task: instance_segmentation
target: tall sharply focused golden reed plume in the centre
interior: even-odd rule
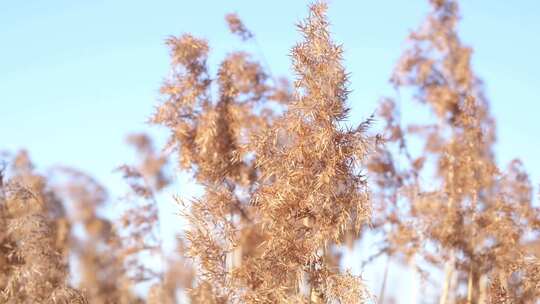
[[[311,294],[329,301],[337,293],[356,291],[361,282],[341,277],[327,261],[332,244],[341,243],[350,228],[358,230],[369,217],[369,197],[359,173],[368,151],[362,128],[340,127],[348,112],[347,75],[342,49],[328,31],[326,6],[310,7],[298,28],[304,41],[292,50],[297,78],[288,111],[257,138],[258,189],[253,204],[267,239],[252,274],[260,284],[256,297],[284,301],[298,289],[301,278]],[[344,294],[341,294],[344,295]],[[345,300],[338,296],[342,303]]]

